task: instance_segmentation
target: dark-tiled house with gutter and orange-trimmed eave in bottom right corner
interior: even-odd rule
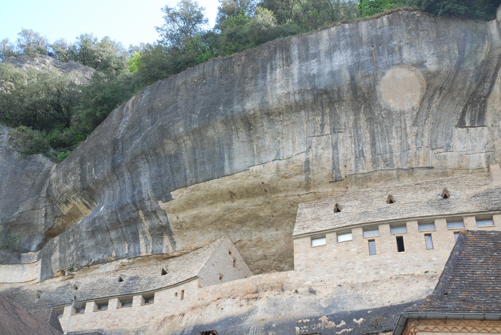
[[[463,231],[431,295],[400,314],[393,335],[501,333],[501,233]]]

